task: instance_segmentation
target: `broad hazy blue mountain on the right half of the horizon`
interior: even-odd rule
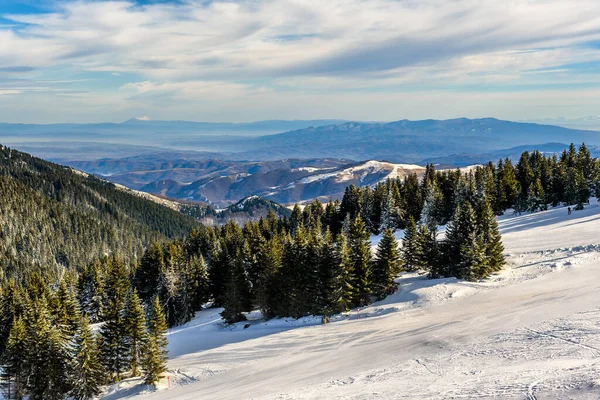
[[[501,121],[494,118],[445,121],[402,120],[311,127],[254,139],[246,159],[334,157],[414,163],[428,157],[480,154],[509,146],[562,142],[600,144],[600,132]]]

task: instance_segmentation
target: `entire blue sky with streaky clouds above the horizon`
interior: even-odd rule
[[[598,0],[0,0],[0,121],[600,114]]]

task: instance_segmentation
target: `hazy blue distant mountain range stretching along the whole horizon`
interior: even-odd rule
[[[195,159],[338,158],[415,163],[424,158],[485,154],[537,143],[600,145],[600,132],[494,118],[389,123],[261,121],[247,124],[138,118],[120,124],[0,124],[0,141],[55,161],[186,151],[195,152],[188,154]],[[78,150],[81,147],[85,152]],[[124,152],[127,154],[123,155]]]

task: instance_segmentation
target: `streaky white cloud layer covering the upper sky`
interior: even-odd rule
[[[600,40],[598,15],[597,0],[64,2],[49,14],[4,16],[27,25],[0,30],[0,83],[2,68],[15,66],[106,72],[139,77],[103,90],[123,107],[212,100],[232,110],[240,97],[268,97],[282,114],[306,114],[312,107],[299,100],[318,93],[366,96],[382,114],[377,105],[415,91],[597,84],[597,74],[561,66],[600,61],[584,46]]]

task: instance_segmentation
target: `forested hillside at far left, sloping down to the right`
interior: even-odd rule
[[[75,267],[105,254],[135,259],[182,237],[190,217],[94,176],[0,147],[3,268]]]

